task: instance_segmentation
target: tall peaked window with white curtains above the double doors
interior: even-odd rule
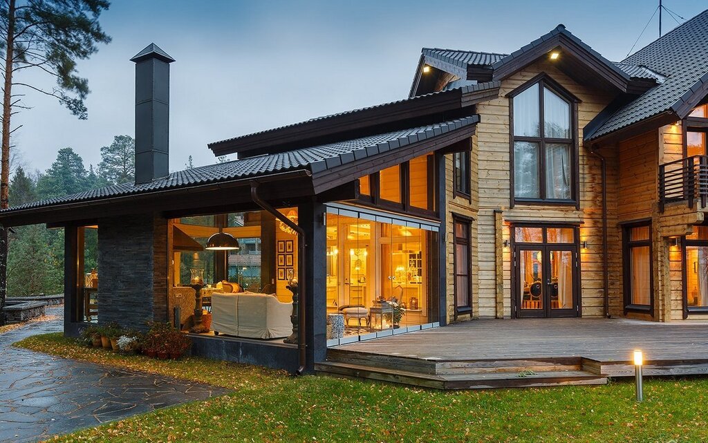
[[[576,200],[575,100],[544,77],[510,93],[513,200]]]

